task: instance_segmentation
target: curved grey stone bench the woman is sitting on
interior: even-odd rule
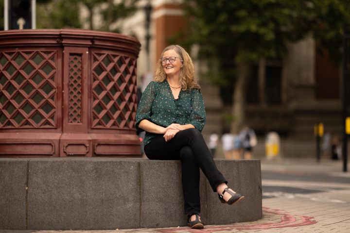
[[[201,174],[205,224],[262,217],[259,160],[215,160],[245,195],[222,204]],[[185,226],[179,161],[127,158],[0,159],[0,229],[108,230]]]

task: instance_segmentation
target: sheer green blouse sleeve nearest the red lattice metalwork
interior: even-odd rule
[[[138,109],[136,111],[136,123],[135,128],[136,130],[139,130],[140,132],[144,131],[139,128],[140,121],[143,119],[150,120],[151,119],[151,110],[153,101],[156,97],[155,92],[155,83],[151,82],[148,84],[146,89],[143,91]]]

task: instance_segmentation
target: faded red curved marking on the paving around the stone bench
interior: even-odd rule
[[[299,227],[315,224],[316,221],[313,220],[314,217],[311,216],[293,216],[290,213],[283,210],[274,210],[267,207],[262,207],[262,211],[265,213],[275,214],[280,216],[280,222],[271,222],[255,225],[240,225],[237,223],[235,225],[216,225],[212,227],[205,227],[202,230],[189,229],[187,227],[180,227],[176,229],[154,229],[157,232],[161,233],[180,233],[180,232],[219,232],[219,231],[229,231],[229,230],[254,230],[254,229],[271,229],[271,228],[284,228],[284,227]],[[299,220],[297,220],[297,218]]]

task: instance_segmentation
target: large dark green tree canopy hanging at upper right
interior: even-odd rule
[[[191,20],[189,44],[218,70],[214,83],[234,85],[236,65],[280,58],[287,42],[311,34],[339,59],[350,0],[185,0]],[[212,69],[210,69],[212,70]]]

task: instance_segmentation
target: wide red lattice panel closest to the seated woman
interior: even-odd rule
[[[136,115],[136,60],[92,53],[92,128],[133,129]]]

